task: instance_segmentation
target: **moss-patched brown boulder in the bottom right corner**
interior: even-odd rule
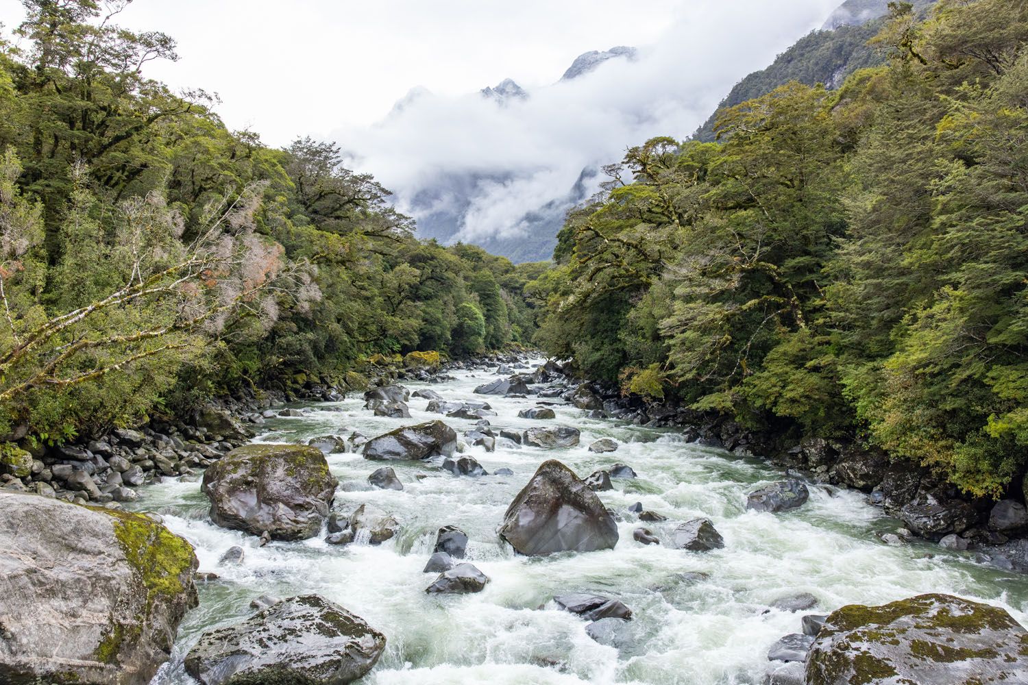
[[[1004,610],[920,595],[829,615],[810,649],[807,685],[1028,684],[1028,631]]]

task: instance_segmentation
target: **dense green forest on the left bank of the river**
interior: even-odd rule
[[[228,130],[145,76],[176,45],[118,28],[125,4],[26,0],[0,42],[0,434],[530,339],[543,265],[415,239],[334,145]]]

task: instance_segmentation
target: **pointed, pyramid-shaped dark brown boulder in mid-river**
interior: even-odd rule
[[[618,525],[610,511],[567,466],[551,459],[507,507],[500,536],[522,555],[610,549]]]

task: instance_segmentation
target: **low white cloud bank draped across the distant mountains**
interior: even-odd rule
[[[564,81],[567,65],[554,65],[552,85],[502,104],[477,92],[414,90],[380,122],[334,138],[415,219],[453,217],[449,227],[433,222],[432,237],[516,238],[534,230],[526,214],[567,200],[583,169],[617,161],[654,136],[688,137],[736,81],[770,64],[837,4],[694,0],[683,3],[660,40],[636,46],[632,61],[610,60]]]

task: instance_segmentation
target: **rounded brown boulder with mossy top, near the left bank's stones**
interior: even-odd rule
[[[244,445],[204,472],[201,490],[222,528],[301,540],[321,530],[336,485],[316,447]]]

